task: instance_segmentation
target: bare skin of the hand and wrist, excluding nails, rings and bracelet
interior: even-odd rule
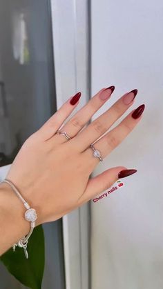
[[[126,169],[124,166],[109,168],[89,178],[99,163],[99,159],[93,157],[90,143],[95,142],[95,148],[105,158],[142,118],[133,119],[132,111],[118,126],[107,132],[135,101],[124,104],[124,94],[104,114],[87,125],[111,96],[110,90],[108,99],[100,99],[103,91],[104,88],[99,90],[66,122],[79,103],[72,106],[70,97],[39,130],[28,137],[10,167],[6,179],[15,184],[30,207],[37,211],[36,226],[55,221],[93,199],[110,188],[118,179],[118,173]],[[56,134],[62,125],[61,130],[66,130],[73,139],[67,140],[63,135]],[[26,209],[7,183],[0,184],[0,210],[0,254],[3,254],[28,233],[30,224],[23,218]]]

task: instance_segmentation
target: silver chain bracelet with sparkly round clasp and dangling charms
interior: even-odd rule
[[[28,259],[28,251],[27,251],[27,244],[28,244],[28,239],[30,235],[32,234],[33,229],[35,228],[35,221],[37,219],[37,213],[36,210],[33,208],[30,208],[29,204],[23,199],[21,196],[20,192],[17,190],[15,185],[12,183],[12,181],[9,181],[8,179],[3,179],[0,183],[8,183],[12,190],[16,193],[17,197],[21,199],[23,202],[23,206],[27,209],[26,212],[24,213],[24,217],[27,221],[30,221],[30,231],[28,232],[28,235],[24,236],[22,239],[20,239],[17,243],[12,245],[13,251],[15,251],[16,246],[19,246],[20,248],[23,248],[24,254],[26,258]]]

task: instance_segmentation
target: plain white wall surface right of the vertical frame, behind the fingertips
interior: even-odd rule
[[[146,104],[141,123],[93,173],[138,170],[91,203],[92,289],[163,288],[162,14],[161,0],[92,1],[92,94],[116,86],[93,119],[134,88],[133,108]]]

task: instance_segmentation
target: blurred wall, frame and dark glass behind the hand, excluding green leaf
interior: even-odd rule
[[[141,123],[92,175],[112,166],[137,174],[44,226],[43,288],[163,288],[162,15],[161,0],[0,0],[0,179],[23,141],[77,91],[75,112],[115,86],[92,120],[135,88],[133,108],[146,104]],[[24,288],[0,267],[1,289]]]

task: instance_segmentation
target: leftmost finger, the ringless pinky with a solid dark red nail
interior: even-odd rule
[[[81,92],[77,92],[73,97],[70,97],[62,106],[55,112],[55,114],[44,123],[39,130],[37,130],[37,136],[39,134],[43,141],[48,141],[57,132],[60,126],[64,123],[67,117],[73,112],[77,104],[79,103],[79,98],[81,97]]]

